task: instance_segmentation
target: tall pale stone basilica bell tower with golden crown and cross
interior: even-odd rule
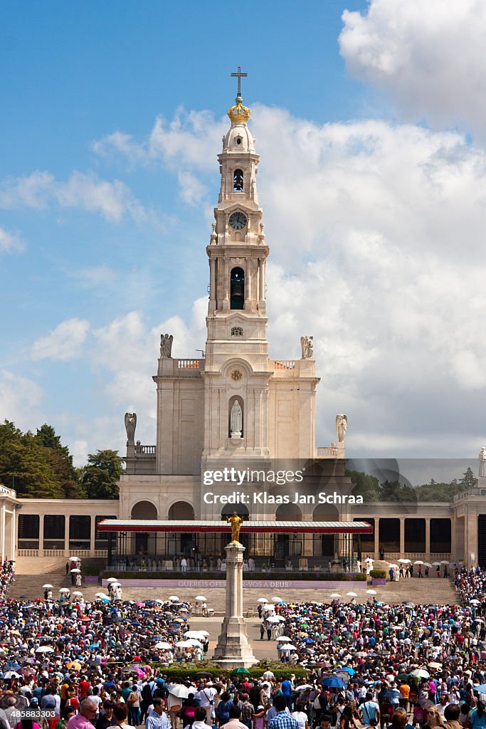
[[[203,456],[268,456],[265,243],[256,173],[259,156],[248,129],[238,69],[231,126],[218,156],[221,186],[211,241],[205,346]]]

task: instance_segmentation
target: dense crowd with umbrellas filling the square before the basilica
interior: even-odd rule
[[[270,670],[171,680],[171,661],[208,649],[174,597],[4,599],[1,729],[486,729],[485,582],[479,568],[458,570],[458,605],[260,604],[283,680]]]

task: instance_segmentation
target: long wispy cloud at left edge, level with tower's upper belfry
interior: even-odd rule
[[[119,222],[125,215],[137,221],[146,217],[125,183],[107,182],[94,174],[74,171],[66,182],[59,182],[48,172],[36,171],[1,183],[0,208],[42,209],[50,203],[99,213],[111,222]]]

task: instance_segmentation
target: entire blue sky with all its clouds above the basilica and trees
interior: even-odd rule
[[[312,327],[318,444],[346,412],[356,456],[479,450],[485,13],[402,6],[2,5],[1,418],[47,421],[81,462],[122,449],[134,408],[154,443],[160,332],[176,356],[204,346],[216,155],[240,65],[271,353],[299,356]]]

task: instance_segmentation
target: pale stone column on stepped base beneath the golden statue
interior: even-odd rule
[[[243,547],[232,542],[226,550],[226,611],[213,660],[229,668],[256,663],[243,620]]]

